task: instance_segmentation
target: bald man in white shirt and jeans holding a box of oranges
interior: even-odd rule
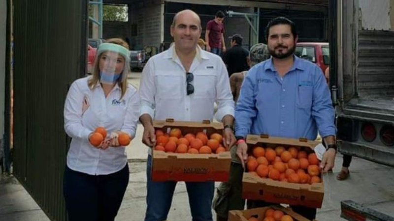
[[[213,120],[225,125],[225,146],[232,146],[234,102],[227,69],[222,59],[197,47],[201,22],[191,10],[178,12],[171,25],[175,44],[151,57],[142,71],[140,121],[143,142],[153,147],[156,137],[152,119],[180,121]],[[167,219],[176,182],[151,180],[151,150],[147,162],[147,209],[145,221]],[[214,182],[186,182],[193,221],[212,221]]]

